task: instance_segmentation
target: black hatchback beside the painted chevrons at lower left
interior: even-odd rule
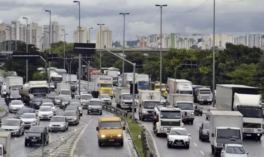
[[[26,133],[25,146],[28,146],[28,144],[29,146],[32,144],[46,145],[49,143],[49,132],[46,126],[31,126]]]

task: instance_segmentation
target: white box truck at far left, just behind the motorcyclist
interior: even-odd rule
[[[6,77],[6,95],[11,93],[19,93],[19,89],[23,87],[23,77],[14,76]]]

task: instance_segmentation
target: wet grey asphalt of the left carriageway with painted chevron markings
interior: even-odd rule
[[[0,99],[0,107],[8,111],[4,99]],[[37,112],[37,111],[36,111]],[[63,109],[56,107],[56,115],[62,114]],[[110,113],[103,112],[102,116],[113,116]],[[7,118],[13,118],[14,114],[7,113],[2,117],[4,121]],[[56,157],[67,156],[120,156],[137,157],[133,149],[129,134],[124,131],[124,146],[98,146],[96,126],[100,115],[87,115],[87,109],[81,117],[79,125],[69,126],[66,132],[50,132],[50,144],[44,147],[44,153],[53,154]],[[48,126],[49,121],[40,121],[40,125]],[[27,129],[26,129],[27,131]],[[20,137],[11,137],[11,157],[38,157],[42,156],[42,147],[39,145],[24,146],[25,135]]]

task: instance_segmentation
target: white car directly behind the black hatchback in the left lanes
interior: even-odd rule
[[[36,113],[24,113],[20,119],[24,122],[25,128],[39,125],[40,123],[40,119]]]

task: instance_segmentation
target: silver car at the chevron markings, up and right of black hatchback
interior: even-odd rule
[[[50,121],[48,130],[53,131],[53,130],[62,130],[65,132],[68,130],[69,123],[66,117],[64,116],[53,116],[52,119],[48,120]]]

